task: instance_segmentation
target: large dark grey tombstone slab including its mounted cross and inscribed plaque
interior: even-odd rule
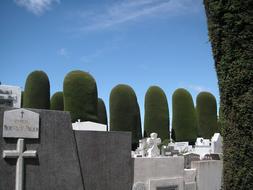
[[[70,114],[0,107],[1,190],[84,190]]]

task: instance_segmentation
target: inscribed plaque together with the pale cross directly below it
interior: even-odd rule
[[[25,109],[4,112],[3,137],[18,138],[16,150],[4,150],[4,159],[17,159],[15,190],[22,190],[24,158],[36,158],[36,150],[25,151],[24,138],[39,138],[39,114]]]

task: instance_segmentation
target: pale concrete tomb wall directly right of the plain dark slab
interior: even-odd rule
[[[184,157],[133,158],[134,183],[142,182],[147,190],[177,185],[184,189]]]

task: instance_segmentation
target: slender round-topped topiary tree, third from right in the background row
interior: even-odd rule
[[[169,108],[164,91],[151,86],[145,95],[144,130],[147,136],[155,132],[163,140],[169,138]]]

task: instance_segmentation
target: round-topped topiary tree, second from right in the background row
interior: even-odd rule
[[[172,128],[175,141],[189,141],[194,144],[197,138],[197,116],[191,94],[177,89],[172,96]]]

